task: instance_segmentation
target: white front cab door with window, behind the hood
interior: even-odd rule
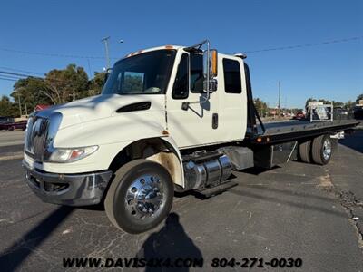
[[[219,95],[211,93],[203,102],[203,57],[179,51],[166,95],[167,131],[179,148],[196,147],[222,141],[219,125]],[[190,102],[188,107],[185,103]],[[184,106],[183,106],[184,105]]]

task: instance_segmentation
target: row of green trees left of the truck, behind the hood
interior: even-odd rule
[[[71,102],[101,93],[105,73],[95,72],[88,78],[84,68],[69,64],[65,69],[53,69],[44,77],[28,76],[14,84],[10,96],[0,100],[0,116],[19,116],[19,101],[22,114],[33,112],[37,104],[55,105]]]

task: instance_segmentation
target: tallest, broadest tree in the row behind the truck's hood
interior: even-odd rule
[[[64,70],[54,69],[46,73],[47,88],[42,90],[54,104],[70,102],[89,96],[88,76],[83,67],[69,64]]]

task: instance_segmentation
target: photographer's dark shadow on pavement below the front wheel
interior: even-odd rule
[[[201,250],[185,233],[179,221],[179,215],[172,212],[165,220],[165,226],[158,232],[152,233],[142,244],[138,258],[166,259],[201,259]],[[166,271],[167,267],[146,267],[145,271]],[[173,268],[177,271],[189,271],[188,267]]]

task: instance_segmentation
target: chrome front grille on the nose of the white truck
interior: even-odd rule
[[[43,161],[50,121],[33,117],[28,121],[25,136],[25,152],[34,160]]]

